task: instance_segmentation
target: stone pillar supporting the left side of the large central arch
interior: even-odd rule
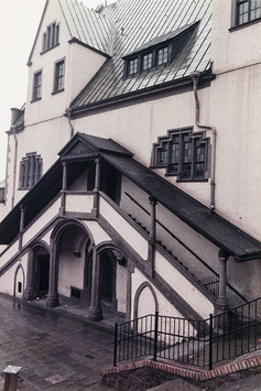
[[[46,307],[57,307],[58,305],[58,251],[57,245],[54,242],[54,239],[52,239]]]

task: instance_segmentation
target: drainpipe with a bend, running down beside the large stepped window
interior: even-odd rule
[[[217,137],[217,131],[216,128],[210,126],[210,124],[203,124],[199,123],[199,99],[198,99],[198,94],[197,94],[197,86],[198,86],[198,80],[200,77],[200,72],[192,72],[191,77],[193,79],[193,85],[194,85],[194,97],[195,97],[195,123],[198,128],[200,129],[207,129],[210,130],[210,138],[211,138],[211,163],[210,163],[210,178],[209,178],[209,184],[210,184],[210,209],[215,209],[215,172],[216,172],[216,137]]]

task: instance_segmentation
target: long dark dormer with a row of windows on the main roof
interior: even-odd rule
[[[181,53],[198,22],[157,36],[123,56],[124,77],[166,66]]]

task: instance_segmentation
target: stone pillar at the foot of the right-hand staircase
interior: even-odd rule
[[[219,295],[218,300],[215,303],[215,315],[222,314],[225,311],[229,309],[229,303],[227,300],[227,261],[228,254],[219,250]],[[228,315],[220,316],[216,318],[215,327],[218,329],[227,328],[228,326]]]

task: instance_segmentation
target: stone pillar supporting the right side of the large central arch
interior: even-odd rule
[[[93,284],[90,292],[90,307],[88,319],[98,322],[102,319],[102,311],[100,305],[100,258],[97,249],[93,251]]]

